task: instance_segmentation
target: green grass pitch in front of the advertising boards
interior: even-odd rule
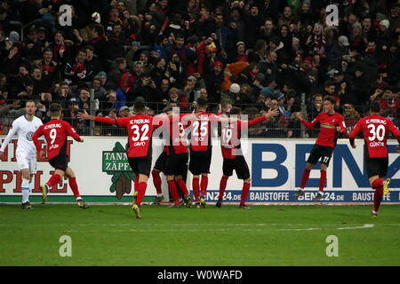
[[[0,206],[0,265],[400,265],[400,207]],[[72,240],[61,257],[60,236]],[[339,256],[326,256],[329,235]]]

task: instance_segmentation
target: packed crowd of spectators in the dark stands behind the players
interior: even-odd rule
[[[60,24],[62,4],[72,26]],[[329,4],[339,6],[338,26],[326,24]],[[349,128],[372,100],[398,126],[399,12],[397,0],[0,1],[0,134],[28,99],[44,121],[60,102],[89,134],[78,110],[128,116],[138,96],[149,114],[190,112],[198,98],[251,117],[279,109],[251,129],[258,137],[300,137],[294,113],[312,120],[328,94]]]

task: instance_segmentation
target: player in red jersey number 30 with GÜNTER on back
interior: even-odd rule
[[[392,132],[400,144],[400,131],[386,117],[380,116],[380,103],[373,101],[370,115],[360,119],[349,135],[350,145],[356,149],[355,138],[363,131],[364,162],[373,193],[372,218],[378,217],[383,194],[388,194],[390,179],[384,180],[388,173],[388,132]],[[400,148],[397,150],[400,151]],[[400,153],[400,152],[399,152]]]

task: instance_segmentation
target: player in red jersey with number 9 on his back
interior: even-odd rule
[[[40,153],[40,157],[44,159],[46,154],[41,149],[39,138],[43,135],[47,142],[47,153],[49,163],[55,169],[54,174],[47,181],[45,185],[40,185],[42,189],[43,202],[47,201],[47,193],[53,185],[60,182],[61,178],[68,177],[68,184],[71,187],[72,192],[76,197],[78,206],[82,209],[87,209],[89,206],[84,203],[79,193],[78,186],[76,184],[76,175],[74,170],[68,167],[68,154],[67,154],[67,137],[70,136],[78,142],[84,142],[83,138],[76,133],[72,126],[68,122],[60,120],[61,117],[61,105],[52,104],[49,106],[51,121],[40,126],[32,136],[32,140],[35,143],[37,152]]]

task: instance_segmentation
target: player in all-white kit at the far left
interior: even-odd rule
[[[12,128],[0,148],[0,157],[4,155],[5,147],[10,143],[12,137],[18,135],[16,156],[22,174],[22,209],[31,209],[29,203],[30,182],[33,175],[36,174],[36,147],[32,141],[32,135],[43,123],[35,116],[36,104],[33,100],[27,101],[25,113],[12,122]]]

